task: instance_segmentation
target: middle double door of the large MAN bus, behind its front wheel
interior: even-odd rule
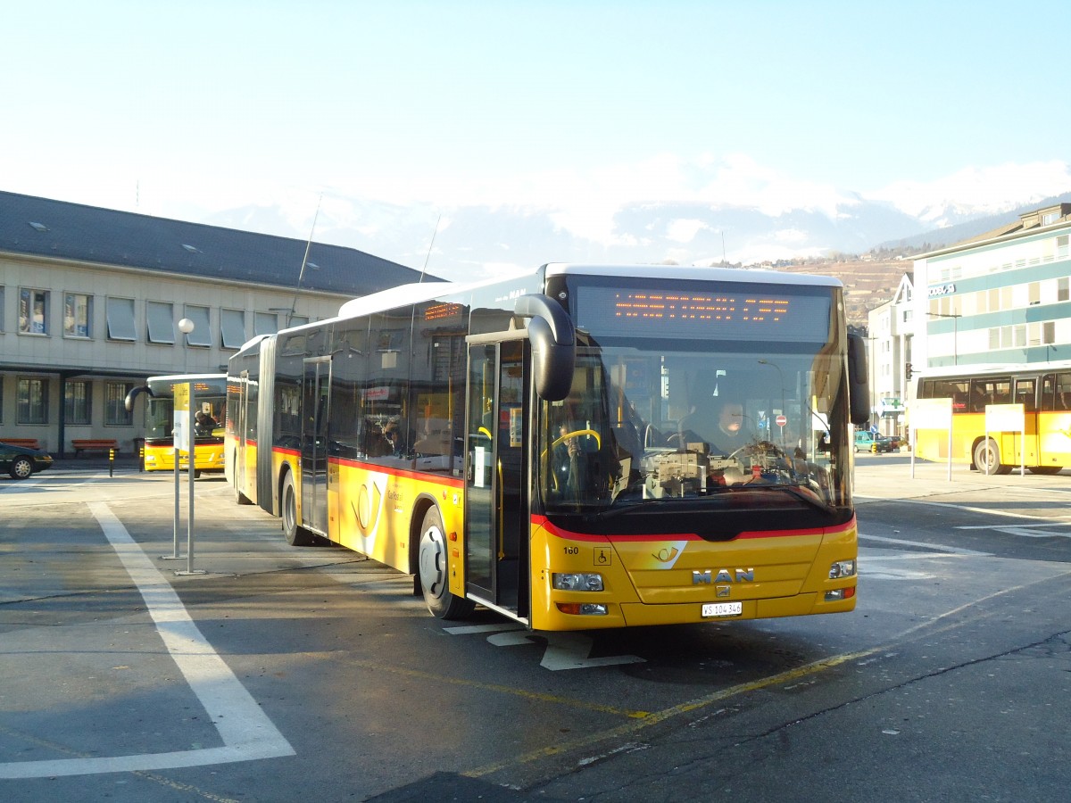
[[[306,359],[301,423],[301,517],[312,530],[328,526],[328,414],[331,358]]]

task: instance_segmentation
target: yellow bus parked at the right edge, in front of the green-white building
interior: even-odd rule
[[[951,399],[952,463],[991,474],[1071,466],[1071,362],[932,368],[918,379],[916,398]],[[989,405],[1023,405],[1024,433],[986,434]],[[947,430],[919,429],[916,439],[916,456],[948,459]]]

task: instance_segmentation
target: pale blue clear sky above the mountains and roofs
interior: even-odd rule
[[[342,198],[531,208],[600,239],[625,203],[919,214],[1071,190],[1052,5],[5,6],[0,190],[58,200],[276,204],[299,230]]]

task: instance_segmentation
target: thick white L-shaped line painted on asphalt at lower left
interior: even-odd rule
[[[89,510],[145,600],[156,632],[205,707],[223,746],[133,756],[12,761],[0,763],[0,778],[167,770],[295,755],[293,747],[201,635],[175,589],[108,505],[94,502]]]

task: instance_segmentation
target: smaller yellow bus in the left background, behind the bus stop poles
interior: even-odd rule
[[[223,442],[227,415],[226,374],[172,374],[149,377],[144,385],[126,395],[126,409],[134,409],[134,399],[142,393],[145,403],[146,471],[175,471],[175,385],[190,383],[193,406],[190,421],[194,429],[194,475],[202,471],[222,473]],[[181,444],[183,452],[187,444]],[[190,466],[185,454],[179,456],[179,469]]]

